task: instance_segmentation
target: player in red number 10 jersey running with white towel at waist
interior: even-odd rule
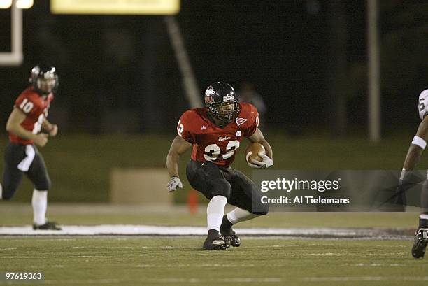
[[[35,146],[43,147],[48,143],[48,136],[56,136],[58,132],[57,125],[46,119],[59,84],[57,71],[52,66],[34,66],[29,82],[31,86],[17,97],[6,124],[9,143],[4,155],[0,199],[12,198],[21,183],[22,174],[26,173],[34,184],[31,199],[33,229],[59,230],[55,222],[48,222],[45,217],[50,178],[45,161]]]

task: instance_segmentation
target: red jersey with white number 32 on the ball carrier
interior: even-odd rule
[[[224,128],[208,118],[206,108],[187,110],[177,124],[178,135],[193,144],[192,160],[229,166],[244,137],[254,134],[259,126],[259,113],[250,103],[239,103],[241,111]]]

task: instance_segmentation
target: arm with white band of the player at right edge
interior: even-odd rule
[[[422,122],[420,122],[418,131],[416,131],[415,137],[408,148],[406,159],[404,160],[404,170],[413,170],[415,169],[416,164],[418,164],[422,152],[425,149],[428,141],[428,116],[425,116]]]

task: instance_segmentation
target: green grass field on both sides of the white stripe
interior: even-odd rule
[[[204,208],[191,215],[183,207],[55,203],[48,215],[62,224],[206,224]],[[28,225],[31,207],[4,203],[0,217],[3,226]],[[416,213],[270,213],[239,224],[236,231],[240,227],[375,227],[405,229],[410,234],[417,217]],[[413,242],[406,237],[241,236],[239,248],[208,252],[201,250],[201,236],[0,236],[0,272],[43,273],[43,282],[34,285],[427,285],[427,261],[411,257]]]

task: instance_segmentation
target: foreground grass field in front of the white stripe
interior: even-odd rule
[[[41,272],[44,280],[36,285],[427,285],[428,281],[428,265],[409,255],[409,241],[243,238],[241,247],[221,252],[200,250],[201,238],[3,237],[0,243],[2,271]]]

